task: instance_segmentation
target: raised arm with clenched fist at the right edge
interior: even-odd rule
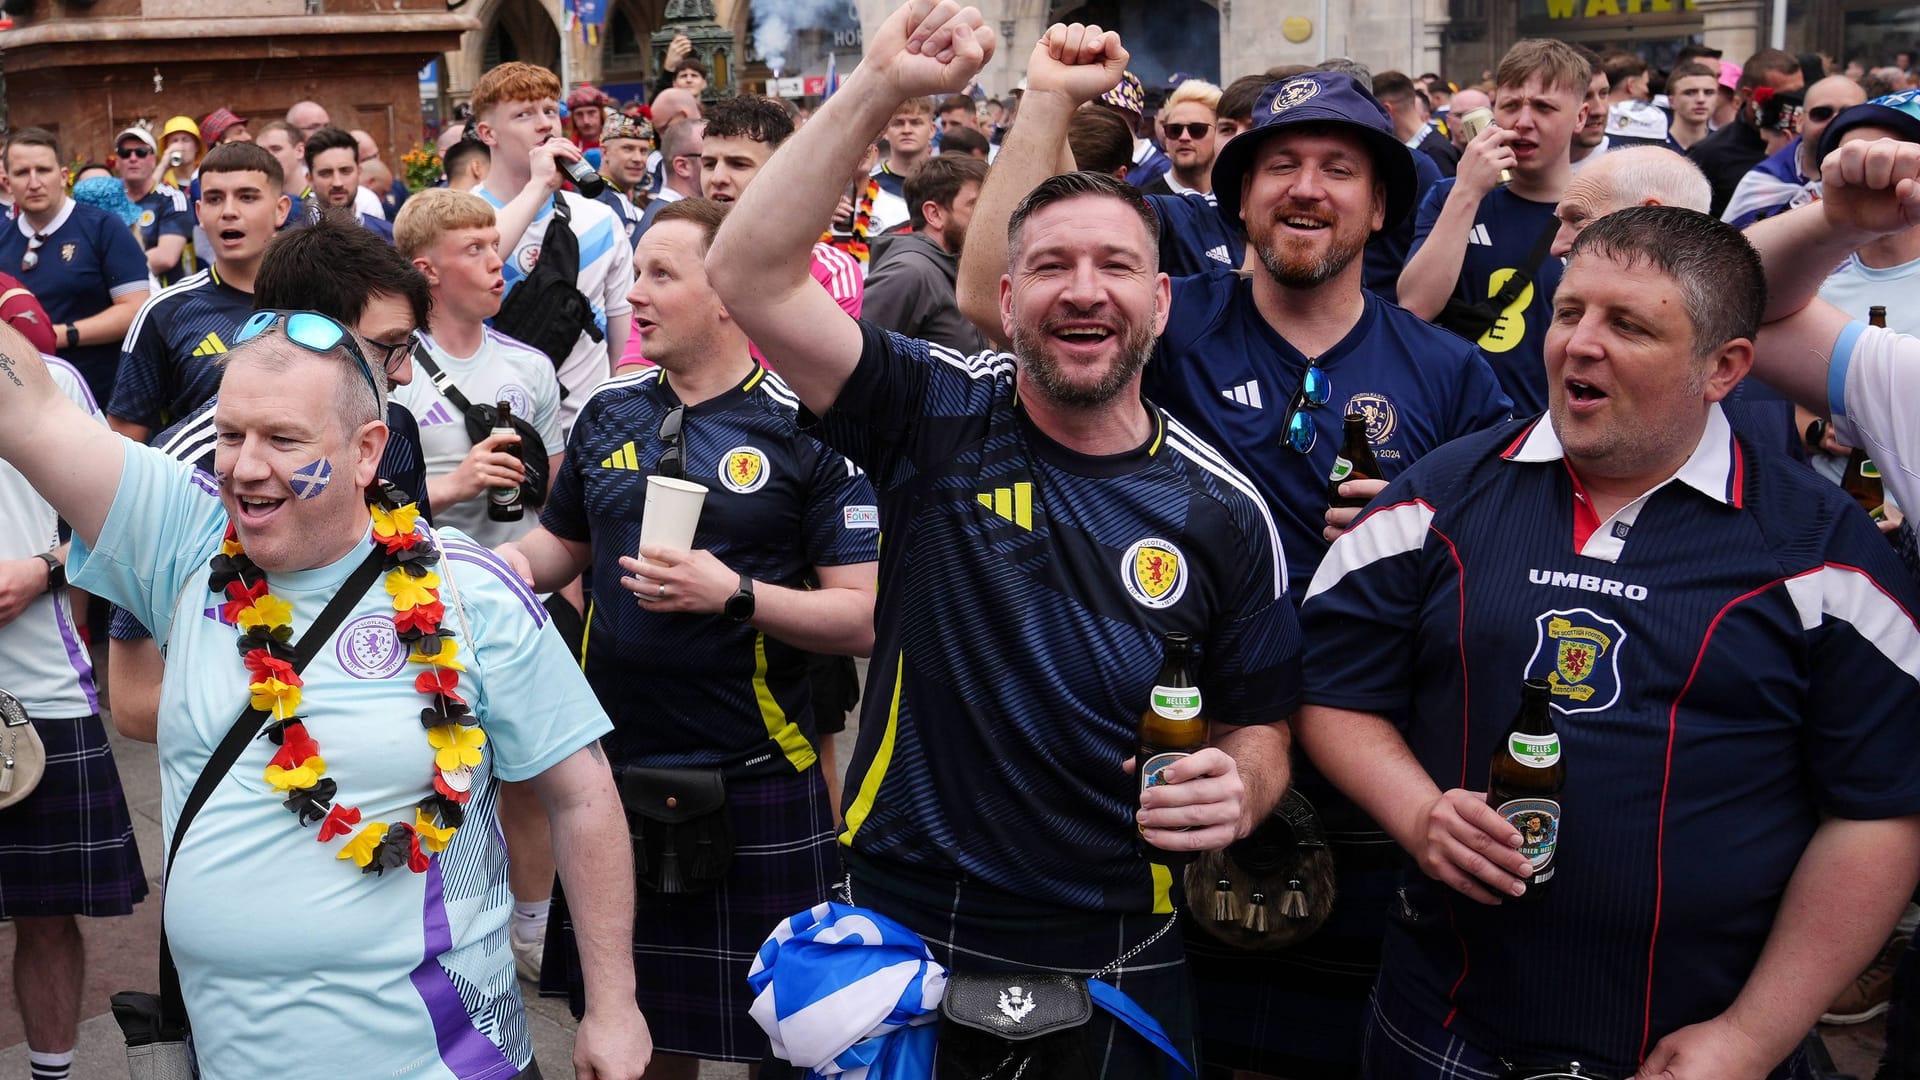
[[[1893,138],[1849,142],[1820,167],[1820,202],[1747,227],[1766,267],[1766,325],[1753,373],[1814,413],[1828,411],[1828,357],[1839,331],[1864,311],[1816,300],[1836,265],[1870,240],[1920,225],[1920,146]]]

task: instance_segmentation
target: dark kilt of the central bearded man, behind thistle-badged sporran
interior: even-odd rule
[[[1039,911],[1006,907],[1006,894],[972,882],[947,882],[935,896],[924,876],[895,876],[897,867],[858,855],[849,857],[851,896],[920,934],[954,974],[1060,972],[1092,978],[1123,953],[1152,940],[1117,970],[1100,976],[1146,1009],[1167,1038],[1198,1068],[1194,1043],[1194,994],[1187,970],[1181,926],[1169,915],[1121,911]],[[1016,982],[1016,978],[1008,978]],[[1167,1057],[1104,1009],[1081,1026],[1085,1057],[1102,1080],[1150,1080],[1173,1076]]]

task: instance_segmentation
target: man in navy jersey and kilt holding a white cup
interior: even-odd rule
[[[747,1015],[755,949],[839,878],[801,650],[866,655],[874,644],[874,490],[799,429],[797,398],[760,369],[707,282],[703,256],[726,215],[680,200],[641,238],[630,300],[659,367],[588,398],[541,527],[499,548],[538,590],[591,567],[586,673],[614,719],[616,773],[707,769],[726,782],[724,880],[685,894],[662,880],[637,899],[634,972],[660,1051],[647,1076],[664,1080],[691,1078],[695,1059],[766,1053]],[[707,488],[693,550],[639,548],[649,475]],[[580,1015],[599,1003],[580,982],[568,903],[555,897],[561,932],[549,930],[541,984],[564,988]]]

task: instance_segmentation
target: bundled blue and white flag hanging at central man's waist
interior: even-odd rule
[[[747,972],[774,1055],[808,1076],[927,1080],[947,969],[893,919],[820,903],[787,919]]]

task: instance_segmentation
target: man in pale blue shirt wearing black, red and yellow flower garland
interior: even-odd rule
[[[167,867],[200,1076],[284,1070],[303,1042],[324,1047],[303,1074],[536,1080],[497,888],[499,784],[526,780],[588,944],[595,1011],[574,1074],[637,1080],[651,1043],[624,949],[634,871],[597,742],[607,715],[513,571],[419,523],[405,496],[369,500],[386,394],[351,331],[275,311],[236,336],[209,479],[92,425],[0,329],[0,457],[73,525],[75,584],[127,603],[175,659],[163,830],[236,721],[271,728],[246,740]],[[336,598],[340,630],[305,642]],[[263,625],[319,646],[300,676],[248,648]],[[250,688],[276,717],[248,717]],[[422,730],[422,705],[447,723]],[[296,746],[309,753],[286,773]]]

